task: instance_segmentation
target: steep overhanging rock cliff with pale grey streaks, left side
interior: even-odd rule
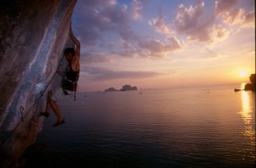
[[[0,167],[21,167],[42,128],[47,91],[60,87],[63,49],[74,46],[68,31],[76,0],[0,4]]]

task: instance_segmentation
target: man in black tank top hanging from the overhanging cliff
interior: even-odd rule
[[[72,92],[76,95],[76,86],[79,78],[80,43],[73,35],[71,29],[68,36],[75,43],[76,50],[74,50],[74,48],[65,49],[64,55],[68,61],[65,78],[62,80],[60,89],[56,90],[56,92],[52,92],[51,90],[48,92],[46,108],[45,111],[41,113],[42,116],[48,118],[50,110],[52,109],[54,114],[58,117],[58,120],[52,124],[53,127],[65,123],[65,119],[62,118],[60,108],[56,102],[59,101],[63,95],[70,95]],[[57,74],[61,75],[61,72],[58,71]]]

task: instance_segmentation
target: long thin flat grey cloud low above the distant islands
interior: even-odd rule
[[[83,73],[92,75],[93,81],[104,80],[117,80],[123,78],[138,79],[138,78],[153,78],[156,76],[165,75],[164,73],[157,73],[153,71],[113,71],[110,69],[104,69],[100,67],[82,67]]]

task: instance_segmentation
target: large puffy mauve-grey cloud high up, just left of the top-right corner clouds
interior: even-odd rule
[[[180,4],[173,24],[177,33],[185,34],[190,40],[211,41],[214,17],[205,17],[202,1],[189,8]]]

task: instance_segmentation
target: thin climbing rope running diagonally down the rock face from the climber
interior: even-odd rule
[[[58,63],[58,67],[56,70],[56,73],[58,71],[58,69],[61,66],[61,62],[63,62],[63,56],[61,57],[59,63]],[[51,80],[49,81],[49,83],[47,83],[47,85],[45,86],[45,88],[43,90],[41,90],[40,92],[40,96],[36,99],[35,103],[28,109],[28,111],[26,113],[24,113],[24,107],[21,106],[20,107],[20,116],[21,116],[21,120],[20,122],[14,127],[14,129],[12,131],[10,131],[9,135],[6,136],[6,138],[4,139],[3,143],[0,144],[0,148],[3,146],[3,144],[10,138],[10,136],[12,136],[13,132],[17,129],[17,127],[20,125],[20,123],[24,122],[24,118],[26,118],[26,116],[28,115],[29,111],[41,100],[42,96],[44,95],[44,92],[47,90],[47,88],[49,87],[49,85],[52,83],[52,80],[54,80],[56,73],[54,74],[54,76],[52,76]],[[25,114],[25,115],[24,115]]]

